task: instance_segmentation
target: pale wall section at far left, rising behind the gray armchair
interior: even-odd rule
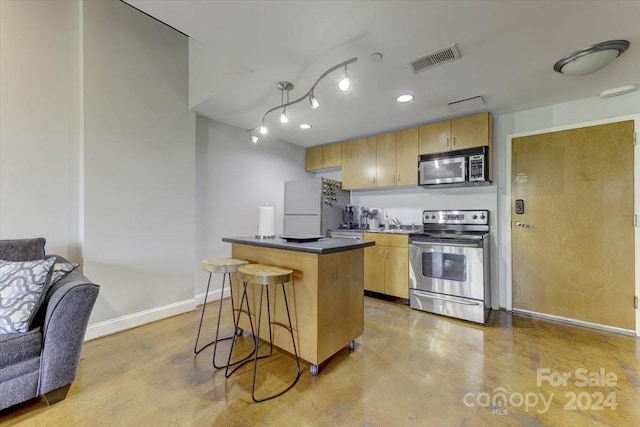
[[[0,238],[80,261],[78,2],[0,1]]]

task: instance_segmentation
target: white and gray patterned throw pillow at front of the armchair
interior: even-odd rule
[[[0,260],[0,334],[27,332],[44,298],[55,258]]]

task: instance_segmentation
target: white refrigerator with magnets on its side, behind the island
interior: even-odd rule
[[[284,184],[284,234],[325,236],[342,224],[342,212],[351,193],[342,183],[326,178],[287,181]]]

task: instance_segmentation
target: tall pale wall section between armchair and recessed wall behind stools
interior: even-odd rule
[[[195,114],[187,37],[125,3],[83,6],[84,271],[101,334],[194,308]]]

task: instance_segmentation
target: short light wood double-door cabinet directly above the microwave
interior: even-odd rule
[[[443,153],[489,145],[490,133],[490,113],[422,125],[418,129],[419,154]]]

